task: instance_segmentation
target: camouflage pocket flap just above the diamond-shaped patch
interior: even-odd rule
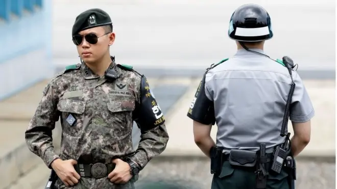
[[[61,99],[57,104],[57,110],[60,112],[83,114],[85,110],[85,102],[82,100]]]

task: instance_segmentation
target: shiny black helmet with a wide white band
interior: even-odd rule
[[[228,36],[246,42],[271,39],[273,31],[268,12],[254,4],[240,6],[230,18]]]

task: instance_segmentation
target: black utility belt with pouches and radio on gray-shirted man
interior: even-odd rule
[[[259,151],[231,150],[229,154],[224,154],[223,149],[212,147],[211,149],[211,174],[218,176],[222,171],[222,165],[229,161],[235,169],[245,169],[255,172],[256,188],[266,188],[267,176],[270,171],[276,174],[285,169],[288,173],[288,183],[290,188],[295,188],[296,179],[295,159],[290,154],[280,154],[279,147],[276,147],[271,154],[265,153],[266,146],[261,144]],[[283,160],[282,160],[283,158]]]

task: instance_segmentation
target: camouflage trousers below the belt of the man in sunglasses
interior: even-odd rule
[[[74,186],[66,186],[60,179],[55,182],[55,189],[134,189],[134,183],[114,184],[107,177],[101,179],[82,177]]]

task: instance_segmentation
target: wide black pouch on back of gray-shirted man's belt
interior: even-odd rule
[[[257,153],[248,150],[231,150],[229,163],[233,166],[254,167],[256,165]]]

